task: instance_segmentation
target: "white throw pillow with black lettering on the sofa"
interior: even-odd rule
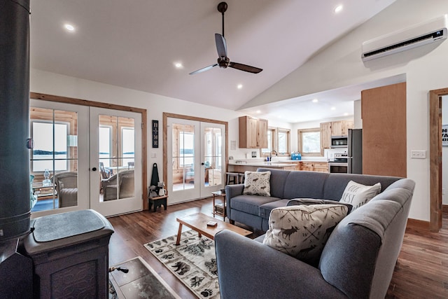
[[[373,186],[365,186],[354,181],[349,181],[345,187],[340,202],[346,202],[353,206],[353,210],[377,196],[381,192],[381,183],[375,183]]]

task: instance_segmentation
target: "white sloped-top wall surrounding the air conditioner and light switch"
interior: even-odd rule
[[[416,181],[410,218],[430,219],[429,158],[410,159],[411,150],[429,156],[428,91],[448,88],[448,41],[414,48],[363,64],[363,41],[448,13],[446,0],[397,0],[371,20],[311,58],[246,106],[405,74],[407,81],[407,176]]]

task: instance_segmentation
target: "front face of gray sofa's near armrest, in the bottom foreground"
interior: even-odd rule
[[[321,272],[230,230],[215,236],[221,298],[346,298]]]

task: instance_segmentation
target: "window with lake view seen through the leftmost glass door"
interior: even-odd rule
[[[50,172],[53,169],[67,170],[68,127],[64,123],[31,120],[31,134],[34,141],[31,172],[44,172],[45,169],[49,169]]]

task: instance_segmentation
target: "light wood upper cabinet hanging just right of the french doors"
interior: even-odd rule
[[[267,148],[267,120],[241,116],[239,118],[239,147]]]

